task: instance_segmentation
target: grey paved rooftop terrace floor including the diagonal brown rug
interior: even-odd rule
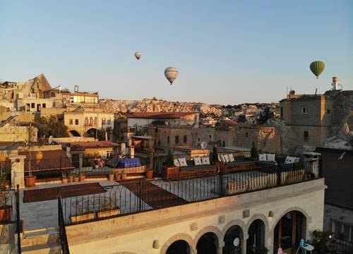
[[[172,205],[182,205],[219,197],[220,183],[226,189],[227,183],[249,182],[249,179],[265,179],[268,174],[261,171],[249,171],[237,174],[227,174],[220,181],[219,176],[209,176],[182,181],[143,180],[143,195],[140,195],[136,184],[138,181],[83,181],[78,183],[48,183],[25,188],[24,190],[65,187],[75,184],[100,183],[104,193],[81,195],[73,198],[63,198],[63,210],[66,223],[70,222],[71,214],[85,214],[87,211],[97,211],[102,205],[114,203],[120,208],[120,214],[158,209]],[[133,186],[135,184],[135,187]],[[258,185],[259,188],[265,186]],[[44,190],[43,190],[44,191]],[[242,189],[241,192],[249,191]],[[231,193],[232,194],[232,193]],[[23,190],[20,191],[20,219],[23,219],[24,230],[53,229],[58,224],[57,200],[41,202],[23,202]]]

